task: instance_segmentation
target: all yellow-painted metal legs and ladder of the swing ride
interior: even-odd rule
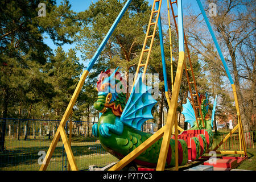
[[[154,11],[156,2],[159,2],[159,9]],[[170,1],[170,3],[171,3],[171,1]],[[172,3],[175,3],[175,2],[172,2]],[[171,3],[171,5],[172,5],[172,3]],[[144,79],[144,76],[146,74],[146,69],[147,69],[147,65],[148,65],[148,60],[150,59],[152,44],[154,42],[154,36],[155,36],[156,27],[157,27],[156,25],[158,23],[158,18],[159,18],[161,5],[162,5],[162,0],[154,0],[154,4],[153,4],[153,7],[152,7],[151,16],[150,16],[150,21],[148,23],[146,38],[144,40],[141,57],[139,59],[139,64],[138,64],[138,67],[137,67],[137,71],[135,73],[134,82],[135,82],[135,80],[138,76],[139,68],[144,67],[142,80]],[[168,11],[170,12],[170,7],[168,7]],[[151,23],[152,15],[155,14],[155,13],[157,13],[156,22]],[[148,35],[148,32],[150,30],[150,26],[153,25],[153,24],[155,24],[154,32],[153,32],[152,35]],[[176,26],[176,24],[175,24],[175,26]],[[148,38],[151,38],[150,48],[145,49],[146,42],[147,42]],[[184,36],[184,39],[185,39],[185,36]],[[186,48],[188,49],[186,40],[185,40],[185,44],[186,44]],[[142,62],[142,59],[143,59],[143,53],[144,52],[148,52],[148,55],[147,55],[146,63],[142,64],[141,62]],[[141,145],[139,145],[133,151],[131,151],[130,154],[126,155],[122,160],[120,160],[117,164],[115,164],[112,168],[110,168],[109,171],[115,171],[115,170],[122,169],[127,164],[132,162],[135,158],[137,158],[140,154],[142,154],[143,151],[147,150],[148,147],[152,146],[152,144],[154,144],[157,140],[159,140],[162,137],[163,137],[163,140],[162,140],[162,145],[161,145],[161,148],[160,148],[160,154],[159,154],[159,158],[158,158],[158,164],[157,164],[157,167],[156,167],[156,171],[163,171],[164,167],[165,167],[165,164],[166,164],[168,146],[170,144],[171,133],[172,133],[172,127],[173,126],[175,127],[175,169],[176,170],[178,169],[177,134],[178,134],[178,130],[183,131],[183,129],[181,129],[179,126],[177,126],[176,109],[177,109],[177,100],[178,100],[178,96],[179,96],[181,78],[183,76],[183,70],[184,70],[184,67],[185,67],[185,63],[184,63],[185,57],[188,57],[188,56],[185,56],[184,51],[180,51],[179,52],[179,60],[178,60],[178,64],[177,64],[177,71],[176,71],[175,81],[174,81],[174,85],[172,86],[172,98],[171,98],[171,100],[168,96],[168,92],[166,92],[166,98],[167,98],[168,105],[169,105],[166,125],[163,126],[160,130],[156,131],[156,133],[154,135],[152,135],[150,138],[148,138],[145,142],[143,142]],[[71,141],[68,140],[68,137],[65,134],[64,127],[65,127],[65,124],[67,123],[69,115],[72,112],[73,106],[75,105],[77,97],[79,96],[82,85],[84,84],[85,79],[88,76],[88,73],[89,73],[89,71],[87,71],[87,70],[84,71],[84,73],[82,73],[80,81],[76,86],[76,90],[73,93],[71,101],[69,102],[69,105],[68,105],[67,109],[65,110],[65,113],[63,115],[63,118],[61,119],[60,125],[59,125],[59,127],[56,131],[56,134],[53,137],[52,143],[49,146],[46,157],[44,158],[43,164],[40,167],[40,171],[44,171],[44,170],[47,169],[47,166],[49,164],[49,160],[51,159],[52,154],[53,154],[53,152],[56,148],[57,142],[59,142],[60,138],[63,141],[63,145],[64,145],[65,151],[67,153],[67,158],[68,158],[68,162],[70,164],[70,168],[72,169],[72,171],[77,171],[78,170],[76,162],[75,162],[75,158],[74,158],[72,150],[71,150],[71,143],[69,143]],[[134,83],[133,83],[133,86],[134,86]],[[238,107],[237,94],[236,94],[236,87],[234,85],[232,85],[232,88],[233,88],[233,93],[234,93],[234,100],[236,102],[238,125],[232,131],[230,131],[230,134],[227,135],[220,142],[220,144],[218,144],[218,146],[216,146],[214,148],[214,150],[217,153],[220,153],[220,154],[241,154],[241,155],[244,154],[244,155],[246,155],[245,139],[244,139],[244,136],[243,136],[243,129],[242,129],[240,111],[239,111],[239,107]],[[240,151],[217,151],[218,147],[220,147],[221,144],[224,143],[225,140],[228,139],[228,137],[230,137],[230,135],[232,135],[232,133],[234,131],[236,131],[237,129],[239,129],[239,134],[240,134]],[[241,142],[242,142],[242,144],[241,144]],[[242,151],[242,147],[243,147],[243,151]]]

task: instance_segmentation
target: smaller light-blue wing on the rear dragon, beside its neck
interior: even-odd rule
[[[181,114],[184,115],[185,122],[188,122],[190,126],[193,127],[195,125],[196,116],[195,116],[194,109],[190,104],[188,98],[187,98],[187,103],[183,104],[182,106],[183,106],[183,111],[181,112]]]

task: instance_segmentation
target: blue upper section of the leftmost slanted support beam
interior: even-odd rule
[[[115,27],[117,27],[117,24],[120,22],[123,14],[125,14],[125,11],[127,10],[128,6],[130,5],[132,0],[127,0],[127,2],[125,3],[125,6],[123,6],[123,9],[120,11],[119,15],[117,16],[117,18],[115,19],[114,23],[112,24],[112,27],[109,29],[108,34],[106,34],[105,38],[102,40],[100,47],[98,47],[97,51],[94,53],[94,56],[92,57],[92,59],[90,60],[86,70],[88,72],[90,72],[90,69],[92,69],[93,64],[95,63],[95,61],[98,59],[98,56],[100,56],[101,51],[103,50],[103,48],[105,47],[106,43],[108,42],[110,36],[112,35],[113,31],[115,30]]]

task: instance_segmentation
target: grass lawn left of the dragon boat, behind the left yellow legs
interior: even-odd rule
[[[37,171],[40,168],[39,151],[47,152],[51,140],[47,137],[40,139],[17,140],[7,137],[6,150],[0,153],[0,170],[11,171]],[[106,152],[97,138],[76,137],[72,139],[71,148],[79,170],[88,169],[92,164],[99,167],[117,162],[118,159]],[[63,160],[63,144],[57,143],[47,170],[63,169],[65,166],[65,150]],[[67,162],[68,164],[68,162]],[[65,168],[64,168],[65,170]]]

